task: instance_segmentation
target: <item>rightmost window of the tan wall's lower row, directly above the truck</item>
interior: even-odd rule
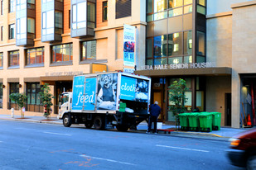
[[[84,41],[82,45],[81,61],[86,59],[96,59],[96,40]]]

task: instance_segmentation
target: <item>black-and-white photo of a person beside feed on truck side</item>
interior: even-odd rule
[[[113,74],[105,74],[104,78],[100,78],[103,80],[99,82],[99,94],[97,97],[98,101],[98,109],[104,110],[114,110],[115,109],[115,100],[116,100],[116,83],[114,83],[114,75]]]

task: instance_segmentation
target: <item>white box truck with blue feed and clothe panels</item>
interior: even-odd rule
[[[59,119],[63,125],[94,125],[96,130],[137,128],[149,114],[151,78],[114,72],[75,76],[73,92],[60,95]]]

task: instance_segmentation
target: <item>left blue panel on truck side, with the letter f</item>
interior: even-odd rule
[[[73,82],[73,101],[72,110],[82,110],[83,102],[81,102],[81,97],[85,90],[85,76],[76,76]]]

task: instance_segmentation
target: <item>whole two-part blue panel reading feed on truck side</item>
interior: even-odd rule
[[[95,91],[96,78],[86,78],[85,83],[85,76],[76,76],[73,82],[72,110],[81,111],[84,105],[85,111],[94,111]]]

